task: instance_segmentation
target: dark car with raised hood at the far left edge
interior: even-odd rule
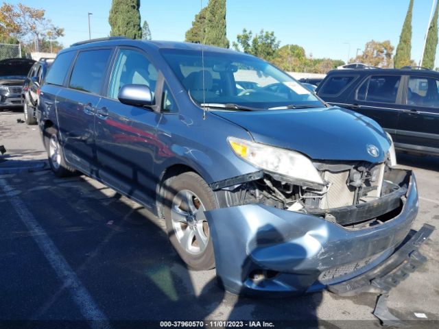
[[[21,89],[34,62],[27,58],[0,60],[0,108],[23,106]]]

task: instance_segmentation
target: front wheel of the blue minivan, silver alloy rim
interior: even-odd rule
[[[191,269],[213,269],[215,256],[204,215],[204,210],[218,208],[213,191],[193,172],[169,178],[163,190],[167,233],[178,255]]]

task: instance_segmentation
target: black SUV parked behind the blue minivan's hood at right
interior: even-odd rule
[[[317,93],[377,121],[396,149],[439,155],[438,86],[439,73],[426,69],[331,71]]]

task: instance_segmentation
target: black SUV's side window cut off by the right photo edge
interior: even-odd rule
[[[410,77],[407,89],[407,104],[439,107],[439,80],[431,77]]]

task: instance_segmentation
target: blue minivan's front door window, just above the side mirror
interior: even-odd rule
[[[113,67],[108,97],[117,99],[119,89],[126,84],[143,84],[150,87],[154,98],[158,73],[154,65],[139,51],[121,49]]]

